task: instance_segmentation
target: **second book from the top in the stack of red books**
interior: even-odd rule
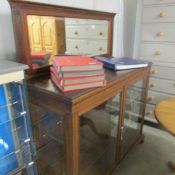
[[[85,77],[85,76],[104,76],[104,70],[92,70],[92,71],[74,71],[74,72],[58,72],[60,78],[73,78],[73,77]]]

